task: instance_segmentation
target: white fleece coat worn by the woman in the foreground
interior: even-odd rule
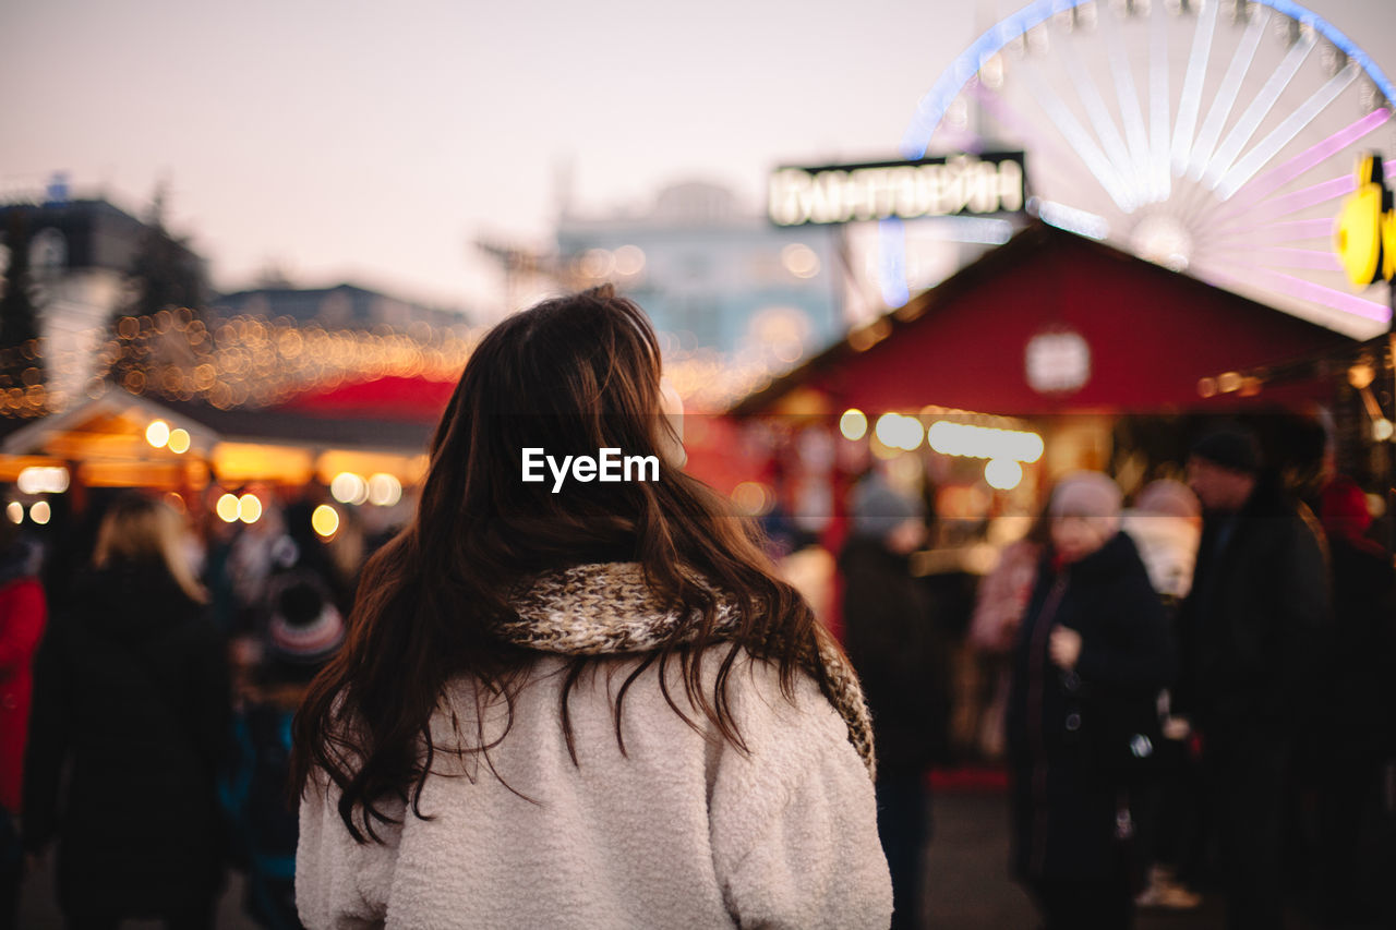
[[[708,681],[725,648],[704,663]],[[296,903],[307,927],[886,927],[892,888],[878,843],[872,782],[845,721],[801,674],[796,702],[764,663],[729,681],[750,750],[706,719],[669,707],[655,667],[624,702],[621,754],[611,700],[623,660],[584,674],[571,695],[581,765],[558,723],[564,660],[543,658],[514,723],[483,764],[438,761],[424,821],[402,804],[387,845],[356,845],[324,785],[300,807]],[[670,694],[687,707],[674,669]],[[475,698],[450,691],[468,736]],[[486,714],[503,729],[503,708]],[[440,757],[438,757],[440,760]],[[501,781],[503,779],[503,781]]]

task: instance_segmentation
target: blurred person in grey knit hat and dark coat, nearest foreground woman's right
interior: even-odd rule
[[[853,528],[839,560],[845,647],[872,714],[892,927],[917,927],[931,835],[926,775],[942,751],[945,726],[931,606],[910,570],[910,553],[926,539],[924,511],[871,473],[853,489],[850,512]]]

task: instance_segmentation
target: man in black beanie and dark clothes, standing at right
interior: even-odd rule
[[[1178,614],[1180,712],[1201,735],[1231,927],[1280,927],[1286,779],[1323,673],[1329,589],[1321,531],[1262,475],[1242,429],[1188,458],[1202,501],[1192,589]]]

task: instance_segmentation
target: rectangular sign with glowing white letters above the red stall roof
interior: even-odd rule
[[[776,226],[1018,212],[1026,198],[1023,154],[778,168],[766,194]]]

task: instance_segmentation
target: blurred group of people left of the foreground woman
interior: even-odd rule
[[[0,926],[56,848],[67,926],[211,927],[233,864],[260,926],[300,927],[290,718],[353,580],[303,503],[207,539],[155,494],[99,505],[87,556],[0,521]]]

